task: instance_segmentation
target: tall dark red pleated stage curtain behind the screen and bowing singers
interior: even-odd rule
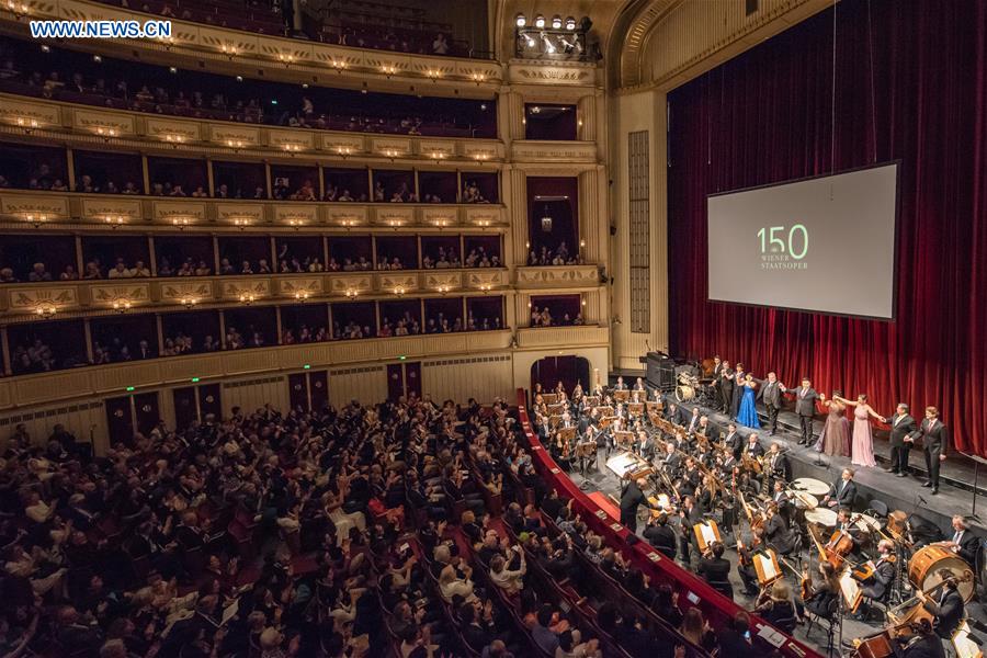
[[[843,0],[669,104],[672,352],[807,374],[882,413],[934,405],[987,455],[987,0]],[[706,194],[894,159],[895,322],[706,302]]]

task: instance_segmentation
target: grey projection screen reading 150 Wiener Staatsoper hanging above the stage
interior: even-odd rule
[[[898,164],[706,197],[708,295],[895,317]]]

